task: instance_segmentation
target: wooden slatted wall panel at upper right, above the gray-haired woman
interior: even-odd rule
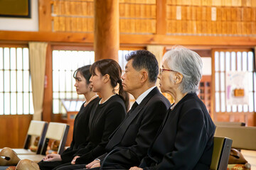
[[[172,1],[167,1],[166,20],[167,34],[169,35],[255,35],[252,25],[255,23],[255,7],[241,6],[241,4],[229,4],[228,6],[218,5],[202,1],[204,3],[192,3],[188,5],[181,1],[176,4]],[[206,2],[206,3],[205,3]],[[207,5],[206,5],[207,4]],[[164,4],[160,4],[164,6]],[[160,7],[157,6],[159,9]],[[159,13],[159,11],[158,11]],[[157,18],[157,22],[164,21],[162,18]],[[159,21],[161,20],[161,21]],[[172,27],[181,27],[180,22],[187,23],[194,21],[193,31],[189,29],[172,29]],[[229,22],[229,24],[227,23]],[[170,24],[177,23],[177,24]],[[208,29],[208,26],[213,25]],[[183,28],[186,28],[186,26]],[[157,33],[158,34],[158,33]]]

